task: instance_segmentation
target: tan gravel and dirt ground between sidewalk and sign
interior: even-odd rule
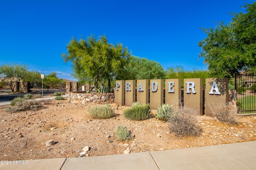
[[[126,119],[126,106],[111,104],[115,117],[93,119],[88,108],[96,104],[72,104],[65,100],[45,100],[37,111],[10,113],[0,106],[0,159],[32,160],[73,158],[156,150],[203,147],[256,140],[256,115],[241,116],[236,125],[227,125],[216,117],[197,116],[203,131],[199,137],[177,137],[168,122],[155,117],[143,121]],[[156,110],[152,110],[154,114]],[[133,138],[118,141],[117,125],[126,125]],[[54,145],[45,144],[54,140]],[[84,148],[89,150],[84,152]]]

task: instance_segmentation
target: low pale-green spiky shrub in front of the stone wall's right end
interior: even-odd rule
[[[109,105],[95,106],[88,109],[90,115],[95,119],[108,119],[114,117],[114,109]]]

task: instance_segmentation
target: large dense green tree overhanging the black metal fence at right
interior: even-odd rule
[[[245,4],[245,13],[233,14],[229,24],[202,28],[207,37],[199,41],[208,70],[214,77],[234,77],[256,68],[256,2]]]

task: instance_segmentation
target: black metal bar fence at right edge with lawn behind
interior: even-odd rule
[[[237,107],[242,113],[256,113],[256,75],[235,76]]]

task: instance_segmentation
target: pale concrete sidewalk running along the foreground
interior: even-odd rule
[[[0,164],[0,169],[256,170],[256,141],[154,152],[23,162],[24,164]]]

